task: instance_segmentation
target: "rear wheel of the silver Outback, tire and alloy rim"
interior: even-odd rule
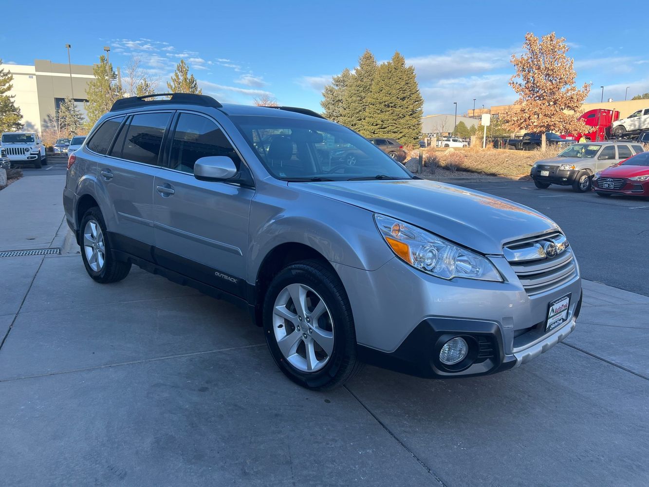
[[[90,208],[79,225],[81,257],[93,280],[107,284],[121,281],[130,271],[130,262],[120,262],[112,255],[106,223],[97,206]]]

